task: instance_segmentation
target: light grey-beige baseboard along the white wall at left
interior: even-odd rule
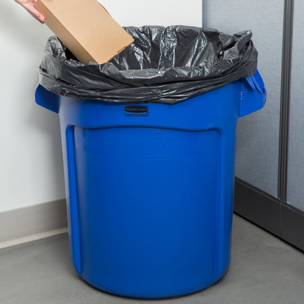
[[[65,199],[0,213],[0,248],[66,231]]]

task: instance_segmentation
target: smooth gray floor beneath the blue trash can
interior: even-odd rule
[[[86,284],[69,262],[67,235],[0,250],[1,304],[146,303]],[[303,304],[304,254],[235,215],[231,267],[199,293],[165,304]]]

